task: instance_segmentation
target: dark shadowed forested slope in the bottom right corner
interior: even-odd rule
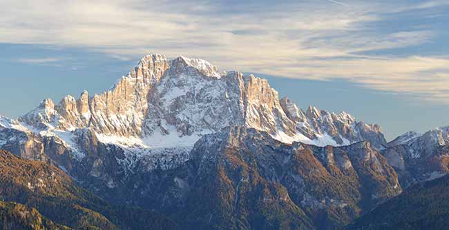
[[[355,220],[347,230],[447,229],[449,176],[414,185]]]

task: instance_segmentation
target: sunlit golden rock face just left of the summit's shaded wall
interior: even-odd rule
[[[80,116],[90,121],[82,127],[93,127],[95,132],[117,136],[140,136],[142,121],[148,107],[149,89],[157,83],[169,61],[165,56],[153,54],[144,56],[137,67],[115,83],[111,90],[90,98],[87,111],[85,92],[79,98],[84,104]]]

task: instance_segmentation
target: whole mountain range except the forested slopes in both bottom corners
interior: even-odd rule
[[[160,54],[144,56],[101,94],[45,99],[18,118],[0,116],[1,149],[33,160],[33,169],[32,162],[54,166],[64,184],[95,197],[91,206],[136,207],[156,227],[180,229],[338,229],[447,174],[448,145],[449,127],[388,143],[379,125],[300,109],[265,79]],[[32,194],[40,185],[20,177]],[[28,212],[42,213],[40,222],[82,226],[47,205],[3,202],[35,208]],[[113,211],[80,206],[107,228],[129,228]]]

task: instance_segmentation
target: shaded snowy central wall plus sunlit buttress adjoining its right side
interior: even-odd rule
[[[256,127],[273,135],[294,135],[294,123],[280,107],[278,93],[265,79],[240,72],[220,77],[217,72],[204,74],[187,65],[192,61],[184,59],[175,59],[175,67],[149,94],[145,128],[150,136],[155,132],[198,136],[218,132],[228,125]]]

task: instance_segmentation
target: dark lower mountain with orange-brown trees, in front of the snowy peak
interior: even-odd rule
[[[187,229],[334,229],[401,193],[370,143],[287,144],[245,127],[202,136],[182,167],[131,176],[126,187],[131,204]]]

